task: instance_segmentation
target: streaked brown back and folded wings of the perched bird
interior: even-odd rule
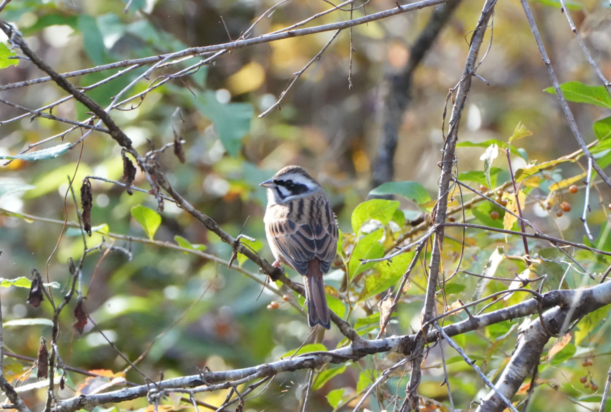
[[[301,223],[288,216],[268,223],[271,241],[280,257],[302,275],[307,274],[308,263],[315,258],[320,260],[321,272],[327,273],[337,252],[337,223],[331,205],[324,197],[315,199],[314,203],[313,211],[318,213],[293,216],[301,218]],[[304,219],[304,215],[310,218]]]

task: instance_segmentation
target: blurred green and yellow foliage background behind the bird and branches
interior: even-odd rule
[[[359,1],[357,1],[359,3]],[[549,3],[549,4],[543,4]],[[144,1],[131,3],[127,13],[120,1],[25,1],[13,0],[2,10],[0,18],[15,23],[29,45],[39,56],[58,72],[107,64],[121,59],[154,56],[182,50],[188,46],[211,45],[237,39],[262,13],[273,6],[268,0],[241,1]],[[374,13],[394,6],[393,1],[376,0],[367,4],[367,13]],[[557,6],[557,5],[556,5]],[[264,34],[301,21],[328,9],[328,2],[287,2],[255,26],[254,35]],[[580,81],[596,85],[598,78],[588,65],[579,45],[566,23],[565,16],[555,7],[555,2],[533,3],[535,17],[543,33],[546,48],[560,81]],[[329,195],[340,229],[346,234],[345,242],[354,243],[351,227],[353,210],[367,199],[371,185],[371,165],[376,159],[382,128],[379,121],[384,111],[384,97],[389,93],[388,76],[400,72],[409,58],[409,48],[422,31],[432,9],[405,13],[398,17],[373,21],[353,29],[352,83],[348,88],[350,38],[343,31],[325,51],[320,61],[298,79],[280,105],[262,119],[258,115],[271,106],[287,87],[293,73],[298,72],[329,40],[332,32],[251,46],[225,54],[218,61],[202,67],[194,75],[173,79],[164,86],[149,92],[142,102],[133,101],[137,108],[129,111],[112,111],[112,117],[134,142],[134,147],[146,150],[149,145],[161,147],[174,139],[173,127],[181,130],[186,163],[181,164],[171,149],[159,155],[159,163],[178,193],[188,199],[203,213],[218,222],[222,229],[233,236],[240,230],[256,238],[254,246],[263,257],[272,259],[263,232],[265,191],[258,183],[271,177],[280,167],[300,164],[318,178]],[[474,28],[481,2],[463,1],[447,26],[439,35],[422,64],[415,70],[412,84],[412,101],[403,116],[400,140],[395,153],[395,180],[419,182],[430,198],[436,197],[439,175],[437,162],[442,147],[441,122],[444,101],[450,87],[455,86],[463,71],[468,50],[469,31]],[[363,10],[354,12],[360,16]],[[584,0],[573,4],[571,13],[587,41],[602,72],[611,78],[611,9],[608,2]],[[222,18],[221,18],[222,17]],[[312,23],[324,24],[348,19],[349,13],[336,11]],[[224,23],[223,21],[224,20]],[[226,26],[226,27],[225,27]],[[518,2],[499,2],[494,17],[494,35],[486,34],[485,44],[492,40],[485,62],[478,75],[489,85],[474,78],[467,108],[463,113],[459,141],[483,142],[488,139],[507,141],[516,124],[522,122],[532,131],[532,136],[522,139],[527,159],[540,162],[553,160],[579,149],[571,135],[565,118],[553,94],[543,92],[549,87],[549,78],[541,57],[536,50],[524,12]],[[6,43],[5,37],[1,39]],[[157,76],[174,73],[177,67],[160,68],[153,72],[150,81]],[[92,90],[88,94],[106,106],[111,98],[145,69],[139,68],[119,79]],[[109,76],[106,71],[71,78],[78,86],[87,86]],[[34,65],[20,60],[19,64],[0,72],[0,83],[9,84],[42,76]],[[150,81],[141,81],[128,95],[145,90]],[[1,97],[28,108],[47,105],[64,96],[64,92],[51,82],[29,87],[5,90]],[[129,108],[129,104],[125,106]],[[592,125],[596,120],[609,116],[609,108],[571,103],[577,123],[587,142],[596,139]],[[180,109],[180,115],[175,111]],[[1,119],[12,119],[23,111],[1,106]],[[53,114],[66,118],[86,119],[86,109],[73,100],[54,108]],[[66,125],[51,120],[24,117],[0,126],[0,155],[13,155],[28,144],[62,133]],[[81,132],[73,131],[68,142],[78,139]],[[59,144],[56,139],[53,144]],[[47,144],[43,147],[48,147]],[[18,193],[0,193],[0,207],[16,213],[27,213],[63,222],[65,212],[69,221],[76,220],[76,207],[68,189],[67,175],[75,173],[79,160],[79,147],[53,160],[26,162],[15,160],[1,166],[0,182],[32,185],[33,188]],[[480,155],[485,147],[460,147],[459,171],[481,171]],[[526,160],[512,157],[514,171],[525,166]],[[500,155],[494,166],[502,169],[497,182],[508,178],[507,160]],[[582,165],[585,164],[582,161]],[[97,175],[112,180],[122,177],[120,147],[108,136],[93,133],[84,141],[82,157],[75,182],[85,175]],[[577,164],[561,164],[544,180],[557,182],[582,172]],[[144,175],[137,174],[135,186],[148,189]],[[156,208],[156,201],[145,193],[134,192],[128,196],[123,188],[92,180],[92,224],[108,225],[102,232],[147,239],[141,225],[132,218],[130,210],[136,205]],[[79,186],[75,187],[78,193]],[[579,216],[583,194],[560,193],[562,199],[573,204],[573,210],[562,217],[555,216],[558,201],[548,213],[537,202],[546,198],[549,189],[543,185],[533,188],[525,215],[536,227],[546,233],[582,241],[584,230]],[[595,244],[611,250],[607,241],[607,204],[609,188],[593,191],[592,213],[589,218]],[[458,194],[456,195],[458,196]],[[65,207],[64,207],[65,206]],[[423,205],[420,205],[423,206]],[[482,213],[491,212],[490,205],[481,206]],[[419,208],[414,202],[401,199],[400,210],[404,216],[414,219],[420,212],[430,210],[430,205]],[[176,236],[185,239],[182,245],[199,246],[206,253],[229,260],[231,248],[222,243],[189,215],[170,202],[161,213],[161,226],[155,239],[176,244]],[[456,216],[458,219],[458,215]],[[395,222],[397,223],[397,222]],[[402,223],[402,222],[400,222]],[[494,224],[494,222],[485,222]],[[23,219],[0,215],[0,257],[2,278],[29,276],[37,268],[49,281],[67,282],[67,259],[78,259],[82,253],[82,240],[78,230],[70,230],[61,237],[62,225],[38,219]],[[498,224],[497,224],[498,226]],[[390,229],[387,229],[390,230]],[[388,234],[390,234],[388,232]],[[461,230],[449,230],[448,236],[460,239]],[[602,237],[600,237],[601,235]],[[102,239],[115,246],[129,249],[133,260],[122,252],[90,254],[83,271],[83,291],[87,296],[87,311],[104,334],[130,359],[141,355],[151,342],[148,355],[139,367],[150,377],[165,378],[197,373],[196,367],[207,366],[211,370],[233,369],[278,359],[287,351],[297,348],[310,329],[305,318],[295,307],[285,303],[280,296],[263,290],[252,278],[238,271],[229,270],[224,263],[201,256],[186,254],[163,245],[143,244],[112,238],[108,234],[94,233],[87,239],[89,246]],[[186,243],[185,243],[186,242]],[[392,245],[392,237],[386,237],[384,246]],[[56,249],[57,246],[57,249]],[[467,240],[464,268],[481,273],[496,246],[504,246],[503,260],[497,273],[512,278],[524,270],[524,263],[511,259],[522,254],[521,240],[505,238],[499,234],[475,232]],[[522,249],[521,249],[522,248]],[[54,249],[56,251],[53,253]],[[444,265],[451,273],[460,252],[459,241],[447,239],[444,249]],[[544,252],[542,252],[544,253]],[[549,252],[553,254],[552,252]],[[50,259],[49,259],[49,256]],[[596,260],[591,254],[576,253],[588,270],[604,271],[607,263]],[[410,255],[406,255],[405,265]],[[556,257],[556,256],[554,256]],[[397,334],[410,333],[419,327],[422,309],[422,292],[426,281],[422,265],[411,277],[411,288],[400,305],[392,330]],[[338,259],[341,266],[341,259]],[[263,280],[252,262],[240,262],[245,271]],[[560,273],[565,270],[555,268]],[[383,271],[383,268],[376,269]],[[374,270],[374,271],[376,271]],[[546,268],[552,271],[550,268]],[[289,271],[290,272],[290,271]],[[292,273],[295,276],[295,273]],[[373,320],[363,321],[362,333],[375,337],[377,312],[375,296],[354,309],[346,311],[345,298],[340,292],[343,271],[332,271],[326,277],[331,287],[330,296],[338,296],[350,322],[359,322],[373,314]],[[571,271],[567,277],[571,287],[587,284],[587,278]],[[469,300],[474,295],[477,279],[458,274],[454,279],[455,296]],[[487,292],[507,288],[507,284],[491,282]],[[359,289],[360,290],[360,289]],[[32,309],[25,303],[27,289],[0,290],[4,321],[21,318],[49,318],[51,309],[43,303]],[[60,296],[62,292],[54,289]],[[379,293],[379,292],[378,292]],[[299,305],[293,293],[280,287],[280,295]],[[517,294],[516,294],[517,295]],[[512,296],[492,309],[516,303],[527,296]],[[279,309],[267,308],[271,301],[280,301]],[[338,306],[335,307],[337,309]],[[190,308],[188,311],[187,309]],[[611,340],[606,315],[602,309],[580,325],[582,335],[574,337],[575,351],[558,364],[547,362],[540,378],[544,380],[530,402],[530,410],[545,410],[555,402],[558,410],[583,410],[581,405],[597,408],[588,403],[593,398],[590,389],[579,384],[579,377],[588,375],[603,386],[611,359]],[[451,319],[464,317],[456,315]],[[84,370],[107,369],[119,372],[125,362],[106,343],[90,323],[84,334],[77,337],[71,330],[73,315],[64,311],[60,318],[60,353],[67,364]],[[605,322],[603,322],[605,321]],[[35,322],[34,322],[35,323]],[[371,326],[373,325],[373,326]],[[483,362],[486,373],[496,376],[507,356],[510,356],[516,337],[515,323],[468,333],[457,337],[474,359]],[[170,326],[172,326],[170,328]],[[365,330],[367,329],[367,330]],[[159,334],[163,336],[155,340]],[[36,356],[39,337],[50,334],[48,324],[6,326],[4,342],[10,351],[25,356]],[[507,336],[505,336],[507,334]],[[491,342],[503,343],[488,353]],[[468,342],[468,343],[467,343]],[[342,344],[342,336],[331,329],[322,342],[326,348]],[[455,353],[448,348],[447,358]],[[601,362],[582,366],[588,356],[601,356]],[[363,361],[348,364],[337,370],[336,377],[324,382],[312,395],[310,410],[331,410],[326,395],[332,389],[344,389],[343,399],[360,391],[375,379],[385,367],[395,363],[396,355],[372,356]],[[558,359],[558,358],[557,358]],[[464,362],[450,362],[452,379],[450,386],[457,406],[467,409],[469,402],[486,392],[483,383]],[[17,377],[31,364],[6,359],[5,366],[12,368]],[[447,390],[440,387],[443,373],[439,364],[439,351],[432,352],[426,363],[420,392],[423,396],[447,401]],[[338,369],[341,369],[338,368]],[[328,375],[328,374],[327,374]],[[409,377],[409,374],[406,375]],[[141,377],[130,370],[128,380],[139,382]],[[84,378],[68,373],[67,388],[61,397],[73,394]],[[29,378],[27,382],[33,381]],[[393,394],[404,394],[407,378],[400,373],[381,389],[380,399],[371,398],[367,408],[379,411],[387,405]],[[284,411],[296,410],[307,382],[304,371],[285,373],[277,377],[264,394],[249,401],[248,410]],[[44,389],[24,392],[28,405],[36,405],[44,399]],[[336,394],[338,392],[335,392]],[[202,394],[198,399],[219,405],[225,392]],[[341,396],[340,396],[341,398]],[[584,398],[585,400],[577,401]],[[589,400],[588,400],[589,399]],[[599,399],[599,398],[598,398]],[[595,402],[593,400],[592,402]],[[178,408],[176,399],[169,405]],[[144,408],[145,399],[117,405],[120,409]],[[353,404],[354,406],[354,404]],[[168,406],[170,408],[170,406]],[[348,410],[348,409],[345,409]],[[351,409],[350,409],[351,410]]]

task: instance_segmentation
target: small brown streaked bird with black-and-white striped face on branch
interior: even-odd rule
[[[265,234],[276,262],[304,276],[308,324],[331,328],[323,274],[337,252],[337,222],[324,190],[303,167],[287,166],[261,183],[267,188]]]

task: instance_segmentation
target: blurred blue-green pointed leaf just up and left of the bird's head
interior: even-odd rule
[[[220,103],[211,90],[197,96],[195,105],[208,117],[227,152],[236,156],[242,138],[251,130],[252,105],[250,103]]]

